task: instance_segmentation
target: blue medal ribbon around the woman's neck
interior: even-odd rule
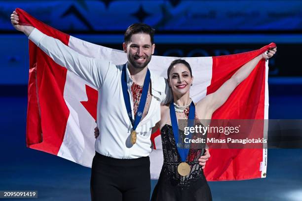
[[[176,118],[176,113],[174,109],[174,101],[170,103],[170,118],[171,118],[171,124],[172,124],[172,131],[177,147],[177,151],[181,157],[182,162],[186,162],[188,154],[189,154],[189,143],[185,143],[185,148],[182,148],[179,144],[179,130],[178,130],[178,123],[177,123],[177,118]],[[195,105],[193,101],[190,104],[189,108],[189,118],[188,118],[188,127],[193,127],[194,126],[194,118],[195,118]],[[189,139],[192,138],[192,133],[189,132],[187,135]]]

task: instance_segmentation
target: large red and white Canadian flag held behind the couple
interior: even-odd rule
[[[22,9],[16,9],[20,24],[36,27],[42,33],[61,40],[78,53],[91,58],[127,62],[126,54],[92,44],[62,33],[38,21]],[[192,67],[194,83],[190,96],[194,102],[215,92],[242,65],[274,43],[251,52],[219,57],[182,58]],[[57,65],[29,41],[27,146],[91,167],[95,154],[94,131],[98,93],[90,84]],[[179,58],[152,56],[149,69],[165,77],[169,64]],[[213,114],[213,119],[268,119],[268,63],[261,60]],[[265,129],[263,130],[265,135]],[[151,178],[159,176],[163,163],[159,131],[151,136]],[[211,158],[204,173],[208,181],[262,178],[266,175],[266,149],[210,149]]]

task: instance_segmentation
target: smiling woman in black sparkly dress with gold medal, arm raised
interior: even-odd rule
[[[161,106],[161,120],[153,128],[153,131],[157,129],[161,131],[164,163],[151,201],[212,200],[203,169],[198,164],[204,148],[193,147],[191,144],[188,153],[180,153],[182,150],[178,148],[177,143],[181,140],[178,140],[178,134],[175,134],[178,133],[177,120],[194,119],[194,123],[209,125],[210,122],[205,122],[205,120],[212,118],[214,111],[226,102],[237,85],[251,73],[261,59],[268,59],[275,52],[276,48],[270,49],[267,54],[259,55],[243,65],[216,92],[196,103],[192,103],[189,98],[189,89],[193,82],[189,63],[185,60],[175,60],[171,63],[167,75],[174,102]],[[195,110],[194,114],[191,114],[190,110]],[[199,122],[199,120],[204,122]],[[200,136],[193,135],[192,138],[194,137]],[[185,164],[184,167],[181,166],[182,164]]]

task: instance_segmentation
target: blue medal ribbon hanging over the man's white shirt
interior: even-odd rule
[[[125,102],[126,109],[127,109],[127,114],[131,121],[131,124],[133,126],[133,131],[135,131],[137,125],[140,123],[140,121],[142,119],[143,111],[144,111],[146,100],[147,100],[149,84],[150,84],[150,70],[148,69],[145,80],[144,80],[143,92],[142,92],[141,100],[139,103],[139,107],[137,109],[136,116],[133,121],[129,92],[128,92],[128,85],[127,85],[126,65],[123,66],[122,74],[121,74],[121,85],[122,85],[122,91],[123,91],[123,96],[124,96],[124,102]]]

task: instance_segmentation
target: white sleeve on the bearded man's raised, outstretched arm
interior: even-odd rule
[[[58,65],[76,73],[97,89],[102,86],[110,66],[109,61],[81,55],[60,40],[41,33],[36,28],[28,38]]]

